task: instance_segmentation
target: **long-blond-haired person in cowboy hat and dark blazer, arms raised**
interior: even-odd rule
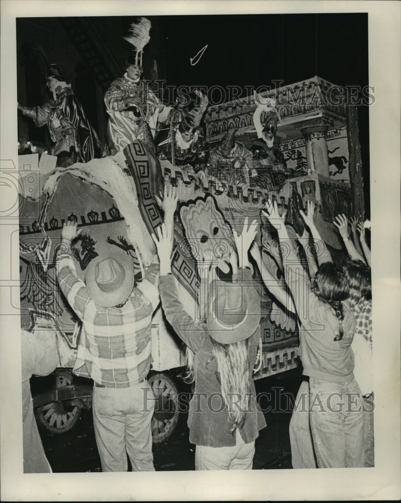
[[[233,233],[240,268],[235,260],[232,283],[209,283],[206,319],[195,322],[178,299],[171,274],[172,226],[163,224],[158,239],[159,290],[166,317],[194,353],[190,368],[195,391],[190,402],[190,442],[196,444],[196,470],[252,469],[255,439],[266,426],[258,410],[253,368],[260,341],[260,298],[252,286],[248,249],[257,230],[254,221]],[[208,269],[209,266],[206,266]],[[212,271],[209,271],[212,276]],[[235,278],[239,278],[235,281]]]

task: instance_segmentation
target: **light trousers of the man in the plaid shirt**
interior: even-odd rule
[[[145,382],[128,388],[93,388],[93,425],[102,470],[154,471],[150,423],[154,400]]]

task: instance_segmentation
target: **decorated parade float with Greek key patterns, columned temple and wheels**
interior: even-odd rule
[[[163,221],[155,199],[164,184],[179,194],[175,220],[173,274],[188,313],[199,316],[200,277],[197,263],[207,253],[224,262],[232,247],[232,229],[246,217],[258,219],[257,243],[265,266],[282,282],[280,254],[274,233],[261,210],[276,199],[292,235],[303,232],[299,209],[312,200],[315,223],[336,259],[344,254],[334,217],[345,213],[364,217],[358,123],[355,107],[345,106],[344,91],[319,77],[277,88],[268,96],[270,107],[260,122],[274,117],[274,146],[258,146],[255,96],[209,106],[204,115],[209,163],[201,173],[158,158],[136,140],[113,156],[56,167],[49,145],[19,143],[21,326],[56,330],[70,352],[47,378],[33,378],[37,421],[52,433],[74,426],[92,400],[92,382],[72,373],[81,323],[58,287],[55,253],[65,221],[82,229],[73,249],[78,275],[85,278],[90,261],[116,247],[135,264],[141,281],[155,253],[151,233]],[[270,114],[270,115],[269,115]],[[273,114],[273,115],[272,115]],[[272,143],[273,145],[273,140]],[[251,153],[251,154],[250,154]],[[283,250],[281,250],[283,253]],[[312,249],[319,254],[319,245]],[[221,267],[222,279],[229,271]],[[261,354],[254,379],[285,372],[299,365],[296,320],[260,285]],[[284,286],[283,286],[284,288]],[[180,414],[179,375],[185,358],[182,344],[165,321],[159,306],[152,319],[152,366],[148,381],[156,398],[152,420],[155,443],[174,431]],[[68,360],[68,358],[67,358]]]

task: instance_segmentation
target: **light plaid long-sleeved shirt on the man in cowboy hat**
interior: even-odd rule
[[[82,320],[74,374],[112,388],[126,388],[146,377],[151,319],[159,303],[158,262],[150,265],[122,307],[96,304],[78,278],[71,256],[58,257],[57,275],[65,298]]]

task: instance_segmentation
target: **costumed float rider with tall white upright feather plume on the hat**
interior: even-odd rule
[[[142,53],[149,42],[151,24],[146,18],[139,18],[131,24],[129,36],[124,39],[134,50],[126,62],[124,76],[116,78],[105,93],[105,104],[109,114],[107,143],[110,154],[114,155],[134,140],[141,140],[154,150],[153,138],[159,113],[169,113],[170,107],[159,102],[150,90],[148,82],[141,80]],[[106,155],[109,152],[105,152]]]

